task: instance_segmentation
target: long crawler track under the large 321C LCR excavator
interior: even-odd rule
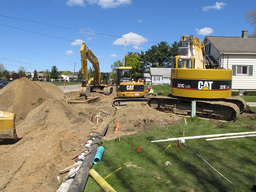
[[[240,108],[244,108],[243,102],[239,102],[240,106],[238,107],[235,103],[230,102],[231,100],[238,102],[230,98],[221,100],[198,100],[174,96],[160,96],[148,99],[148,104],[150,107],[160,111],[174,113],[175,110],[176,114],[190,115],[191,101],[196,101],[196,115],[198,117],[236,121],[240,115]]]

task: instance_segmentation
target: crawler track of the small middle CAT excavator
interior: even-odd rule
[[[113,107],[123,107],[125,105],[129,104],[141,104],[141,105],[146,105],[148,102],[149,98],[121,98],[121,97],[115,97],[113,99],[112,106]]]

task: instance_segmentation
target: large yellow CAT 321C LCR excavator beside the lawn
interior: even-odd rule
[[[196,101],[197,116],[235,121],[246,102],[231,97],[233,71],[212,62],[198,37],[182,35],[181,44],[178,56],[172,59],[171,94],[150,98],[148,104],[161,111],[190,115],[191,101]]]

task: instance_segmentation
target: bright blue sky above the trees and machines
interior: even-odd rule
[[[101,72],[127,52],[147,51],[181,35],[252,33],[244,13],[255,0],[12,0],[0,6],[0,63],[9,71],[79,71],[80,47],[98,57]],[[46,25],[47,24],[47,25]],[[126,37],[126,38],[121,38]],[[88,62],[90,63],[90,62]],[[92,66],[92,64],[89,64]]]

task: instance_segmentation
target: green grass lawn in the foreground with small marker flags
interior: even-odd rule
[[[254,119],[254,120],[252,120]],[[222,123],[213,120],[187,118],[185,137],[208,134],[250,132],[247,127],[255,127],[255,116],[239,116],[236,122]],[[214,126],[217,125],[217,126]],[[177,141],[154,142],[167,138],[183,137],[183,123],[168,127],[153,127],[118,140],[102,141],[105,148],[101,162],[93,169],[105,178],[116,191],[122,192],[249,192],[256,183],[256,137],[206,141],[185,140],[177,148]],[[170,148],[167,147],[171,145]],[[141,147],[140,152],[137,148]],[[167,149],[165,152],[164,150]],[[230,180],[237,188],[221,177],[213,168]],[[166,166],[165,162],[184,163]],[[188,164],[192,162],[192,165]],[[239,188],[239,189],[238,189]],[[89,177],[86,192],[103,191]]]

